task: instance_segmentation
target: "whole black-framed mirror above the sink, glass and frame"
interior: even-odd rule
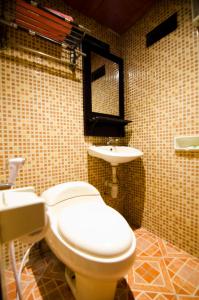
[[[124,136],[123,59],[89,35],[82,43],[84,134]]]

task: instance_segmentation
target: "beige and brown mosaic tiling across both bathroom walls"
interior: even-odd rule
[[[121,38],[59,0],[49,6],[76,17],[92,34],[121,55]],[[173,12],[178,28],[150,48],[145,35]],[[20,43],[59,57],[59,48],[11,31]],[[119,167],[120,195],[107,203],[160,237],[199,255],[199,157],[176,154],[176,135],[199,133],[199,38],[191,24],[190,1],[156,1],[123,37],[126,142],[144,152],[142,160]],[[16,45],[15,45],[16,46]],[[3,54],[4,53],[4,54]],[[0,182],[6,160],[23,156],[17,187],[33,185],[41,193],[64,181],[88,180],[101,192],[110,166],[87,155],[83,135],[81,59],[74,74],[62,64],[17,50],[0,52]],[[21,245],[18,253],[22,252]],[[18,254],[17,253],[17,254]],[[19,255],[20,256],[20,255]]]

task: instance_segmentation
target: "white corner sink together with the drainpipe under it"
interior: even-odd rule
[[[118,195],[117,166],[127,163],[143,155],[143,152],[132,147],[125,146],[90,146],[88,153],[91,156],[101,158],[109,162],[112,166],[112,182],[107,183],[111,188],[112,198]]]

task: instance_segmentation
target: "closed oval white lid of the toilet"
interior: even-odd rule
[[[128,251],[133,240],[126,220],[104,204],[65,207],[59,215],[58,229],[73,247],[99,257],[121,255]]]

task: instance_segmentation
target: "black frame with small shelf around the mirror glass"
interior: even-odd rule
[[[95,41],[97,41],[95,39]],[[102,43],[99,41],[99,43]],[[84,98],[84,135],[88,136],[124,136],[124,67],[123,59],[110,53],[106,47],[99,46],[88,39],[82,43],[83,57],[83,98]],[[119,116],[92,112],[91,94],[91,51],[119,66]]]

